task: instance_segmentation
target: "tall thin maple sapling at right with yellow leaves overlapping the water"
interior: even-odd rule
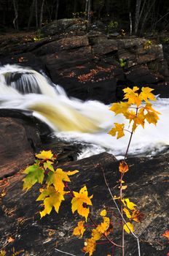
[[[109,135],[117,135],[117,139],[119,139],[125,136],[125,132],[130,132],[130,139],[125,152],[126,159],[135,129],[139,125],[144,128],[146,121],[149,124],[156,125],[159,119],[158,115],[160,113],[152,108],[152,103],[150,102],[150,100],[156,100],[154,94],[152,94],[153,89],[149,87],[142,87],[141,92],[138,93],[139,88],[134,86],[133,89],[127,87],[123,91],[125,93],[123,99],[127,101],[114,103],[111,105],[110,110],[113,111],[115,115],[122,114],[129,121],[129,124],[127,124],[127,128],[125,128],[125,124],[114,123],[114,127],[109,131]],[[141,219],[144,217],[144,214],[141,214],[141,212],[136,209],[136,205],[133,202],[130,202],[128,198],[124,198],[122,194],[122,191],[127,189],[127,186],[124,186],[125,181],[123,181],[123,177],[129,170],[125,159],[119,162],[119,197],[114,197],[114,199],[119,199],[121,202],[120,215],[122,217],[122,256],[125,255],[124,230],[127,233],[133,233],[134,227],[132,221],[141,222]],[[127,219],[130,219],[130,222],[124,221],[123,213],[125,213]],[[138,255],[140,255],[139,241]]]

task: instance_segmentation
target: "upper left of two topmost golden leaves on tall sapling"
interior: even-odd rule
[[[127,99],[129,104],[134,104],[137,107],[141,105],[141,99],[135,91],[138,91],[139,88],[137,86],[134,86],[133,89],[130,89],[129,87],[123,89],[125,92],[125,97],[123,99]]]

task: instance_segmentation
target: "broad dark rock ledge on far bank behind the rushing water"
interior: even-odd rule
[[[164,55],[162,45],[155,40],[109,39],[97,26],[87,34],[76,33],[83,26],[80,19],[55,20],[43,28],[47,34],[55,34],[53,37],[27,43],[20,37],[12,38],[12,42],[0,40],[0,62],[42,69],[53,83],[66,89],[68,96],[82,100],[97,99],[109,104],[119,99],[122,86],[145,85],[153,85],[157,91],[159,88],[168,97],[166,45]]]

